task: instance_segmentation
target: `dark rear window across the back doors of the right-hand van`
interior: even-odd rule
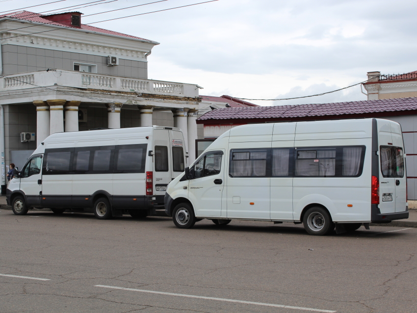
[[[404,153],[401,147],[380,146],[380,154],[382,176],[404,177]]]

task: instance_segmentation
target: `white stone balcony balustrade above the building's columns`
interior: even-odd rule
[[[7,78],[0,79],[0,91],[61,85],[103,90],[135,91],[138,93],[165,94],[191,98],[198,97],[198,88],[196,85],[192,84],[77,71],[50,70],[48,72],[36,71],[6,76]]]

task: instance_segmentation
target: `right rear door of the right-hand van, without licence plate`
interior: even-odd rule
[[[392,144],[395,155],[395,212],[404,212],[407,205],[407,175],[404,166],[404,146],[401,126],[391,122]]]

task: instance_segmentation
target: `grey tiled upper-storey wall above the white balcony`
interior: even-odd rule
[[[119,59],[119,65],[107,66],[107,57],[50,49],[2,45],[3,75],[40,71],[48,68],[74,70],[74,62],[97,65],[98,74],[148,78],[148,63]]]

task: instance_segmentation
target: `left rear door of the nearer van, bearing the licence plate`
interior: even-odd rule
[[[395,156],[392,146],[391,122],[378,119],[380,158],[379,193],[381,213],[395,212]]]

